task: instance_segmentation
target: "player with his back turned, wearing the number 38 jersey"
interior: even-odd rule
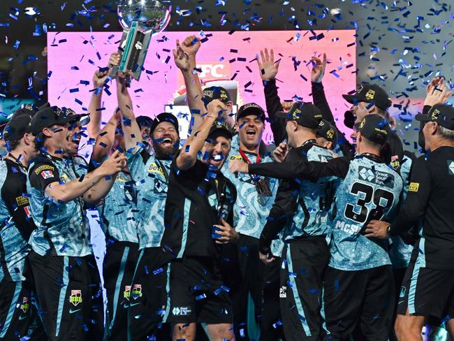
[[[381,159],[389,134],[386,120],[367,115],[358,127],[358,155],[351,161],[346,157],[307,161],[298,151],[293,152],[296,157],[291,157],[291,151],[283,163],[238,165],[234,169],[287,180],[298,177],[314,182],[328,176],[341,179],[335,192],[331,256],[323,284],[325,321],[332,340],[347,340],[351,335],[358,340],[388,340],[394,307],[391,263],[386,242],[366,238],[365,227],[372,219],[390,217],[402,191],[400,175]],[[292,214],[285,206],[275,212],[270,224],[282,212]]]

